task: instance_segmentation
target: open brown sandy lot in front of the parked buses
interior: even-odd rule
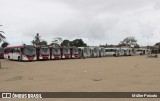
[[[36,62],[0,61],[1,92],[160,91],[160,58],[132,56]]]

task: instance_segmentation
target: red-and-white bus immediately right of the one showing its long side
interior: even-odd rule
[[[36,53],[37,53],[37,60],[50,59],[50,48],[48,46],[37,46]]]

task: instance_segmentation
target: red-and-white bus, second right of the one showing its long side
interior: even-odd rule
[[[61,59],[61,49],[59,47],[50,47],[50,59]]]

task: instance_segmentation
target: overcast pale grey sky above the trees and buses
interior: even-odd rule
[[[160,42],[160,1],[0,0],[0,25],[11,45],[31,44],[36,33],[48,43],[61,37],[97,46],[135,37],[142,46],[154,45]]]

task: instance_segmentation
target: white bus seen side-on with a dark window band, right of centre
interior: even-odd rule
[[[120,49],[119,48],[105,48],[106,56],[120,56]]]

